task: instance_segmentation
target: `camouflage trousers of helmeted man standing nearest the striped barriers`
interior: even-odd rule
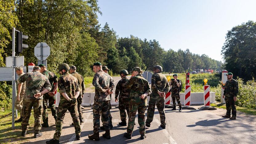
[[[161,98],[159,96],[152,96],[152,95],[150,96],[146,124],[150,125],[150,123],[153,121],[155,106],[156,106],[160,114],[161,126],[166,126],[164,101],[165,101],[165,98]]]

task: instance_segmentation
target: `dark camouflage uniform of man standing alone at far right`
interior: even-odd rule
[[[234,79],[227,80],[224,88],[225,102],[226,102],[226,115],[230,116],[232,109],[232,116],[236,116],[236,107],[234,97],[238,94],[238,82]]]

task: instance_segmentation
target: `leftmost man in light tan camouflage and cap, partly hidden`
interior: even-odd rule
[[[22,76],[23,74],[25,74],[23,72],[23,67],[15,67],[15,71],[18,74],[18,76]],[[17,81],[17,85],[18,85],[18,91],[17,91],[17,97],[15,100],[14,106],[15,106],[15,109],[20,112],[20,118],[15,122],[21,122],[23,118],[22,106],[23,106],[23,96],[26,89],[26,82],[20,83],[19,81]]]

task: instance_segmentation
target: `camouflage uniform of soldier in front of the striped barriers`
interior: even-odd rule
[[[177,79],[177,82],[181,85],[181,82],[179,79]],[[171,92],[172,92],[171,97],[172,97],[172,102],[173,102],[173,108],[174,109],[176,108],[175,99],[178,102],[179,108],[181,108],[182,106],[181,106],[181,102],[180,102],[180,89],[177,86],[176,82],[174,82],[174,81],[171,82]]]

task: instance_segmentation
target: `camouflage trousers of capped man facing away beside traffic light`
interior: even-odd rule
[[[34,108],[34,130],[35,132],[38,132],[41,130],[41,119],[42,119],[42,113],[43,113],[43,100],[42,99],[30,99],[25,98],[23,99],[23,118],[21,123],[21,129],[22,131],[27,131],[29,127],[29,118],[30,113],[32,110],[32,107]]]

